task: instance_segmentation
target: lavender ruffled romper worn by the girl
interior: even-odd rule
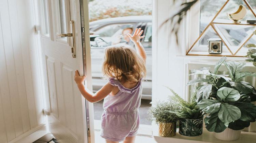
[[[119,92],[113,96],[108,95],[104,99],[104,112],[101,116],[101,137],[110,141],[121,142],[126,137],[136,136],[139,128],[141,81],[132,89],[125,88],[114,78],[110,78],[109,83],[117,86]]]

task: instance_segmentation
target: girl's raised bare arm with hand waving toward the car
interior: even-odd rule
[[[130,37],[131,41],[134,43],[138,54],[146,62],[146,59],[147,59],[146,51],[140,42],[140,39],[145,37],[145,36],[141,36],[142,33],[143,33],[143,30],[141,30],[141,28],[139,29],[137,28],[134,31],[133,35],[131,34],[127,34],[127,35]]]

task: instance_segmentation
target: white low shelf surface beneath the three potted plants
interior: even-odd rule
[[[153,137],[157,143],[253,143],[256,142],[255,132],[241,132],[240,138],[236,141],[222,141],[213,136],[213,132],[209,132],[203,128],[203,134],[199,137],[185,137],[179,134],[177,128],[176,136],[161,137],[158,135],[158,126],[153,125]]]

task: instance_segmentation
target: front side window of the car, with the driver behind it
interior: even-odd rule
[[[123,34],[123,31],[126,30],[125,33],[127,31],[132,33],[133,26],[133,23],[117,23],[102,26],[95,31],[98,37],[91,41],[91,45],[94,47],[106,47],[118,43],[128,43],[129,39],[127,39],[126,34]]]

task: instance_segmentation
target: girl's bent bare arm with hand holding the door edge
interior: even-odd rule
[[[113,86],[110,85],[108,82],[99,91],[97,91],[96,93],[93,93],[89,91],[83,84],[86,76],[80,76],[79,72],[76,70],[74,78],[75,78],[77,87],[79,88],[82,95],[85,97],[85,99],[87,99],[91,103],[101,101],[106,96],[108,96],[113,89]]]

